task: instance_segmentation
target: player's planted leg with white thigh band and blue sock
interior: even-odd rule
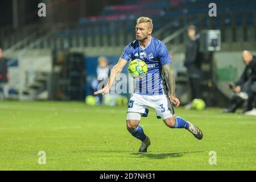
[[[139,125],[141,121],[141,114],[134,112],[127,112],[126,127],[133,137],[142,141],[139,152],[146,152],[147,147],[150,146],[150,139],[144,134],[142,127]]]

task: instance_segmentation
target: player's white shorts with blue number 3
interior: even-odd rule
[[[156,95],[147,96],[142,94],[133,93],[131,95],[127,113],[142,113],[147,116],[146,110],[148,107],[155,109],[158,118],[166,119],[174,116],[174,107],[172,106],[168,96]]]

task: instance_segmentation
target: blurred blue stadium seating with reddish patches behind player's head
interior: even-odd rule
[[[201,28],[209,28],[210,21],[213,22],[214,28],[255,24],[256,1],[214,1],[217,5],[217,17],[210,19],[208,5],[211,2],[211,0],[126,0],[122,5],[104,7],[97,16],[81,18],[74,28],[59,28],[56,30],[56,35],[90,36],[131,32],[139,16],[151,17],[155,31],[171,21],[174,22],[172,28],[183,27],[188,23],[188,19],[193,19],[193,23]],[[221,19],[222,16],[224,20]],[[184,21],[179,20],[181,17]]]

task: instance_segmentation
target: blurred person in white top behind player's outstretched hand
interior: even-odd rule
[[[106,57],[98,57],[97,79],[92,81],[92,93],[96,92],[98,89],[104,88],[104,86],[108,83],[111,68],[112,65],[109,64],[109,61]],[[98,88],[98,86],[100,86],[100,88]],[[100,94],[96,96],[96,100],[98,104],[102,104],[102,95]]]

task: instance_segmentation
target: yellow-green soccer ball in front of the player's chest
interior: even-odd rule
[[[140,59],[135,59],[128,65],[128,73],[133,78],[142,78],[147,74],[147,64]]]

